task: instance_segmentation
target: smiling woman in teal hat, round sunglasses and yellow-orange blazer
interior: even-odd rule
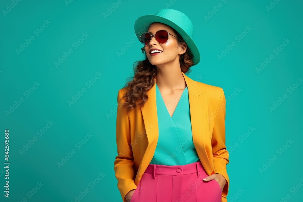
[[[135,22],[145,60],[118,91],[114,170],[123,202],[226,202],[223,89],[187,77],[200,55],[183,13]]]

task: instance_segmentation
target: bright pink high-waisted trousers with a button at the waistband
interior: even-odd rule
[[[200,161],[187,165],[149,164],[130,202],[221,202],[216,180],[203,181],[208,174]]]

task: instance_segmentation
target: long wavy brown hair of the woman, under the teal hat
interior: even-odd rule
[[[182,36],[174,28],[171,27],[171,29],[178,38],[178,44],[185,45],[187,47],[186,42],[184,40],[180,40],[182,39]],[[142,47],[141,50],[142,53],[145,52],[144,47]],[[185,53],[180,57],[180,67],[183,73],[191,72],[191,69],[189,68],[194,65],[192,58],[193,54],[190,48],[187,47]],[[128,82],[126,88],[127,91],[122,97],[122,99],[125,99],[123,107],[127,112],[131,111],[136,106],[139,106],[140,108],[144,106],[145,102],[148,100],[147,91],[154,86],[154,78],[157,74],[156,66],[149,62],[146,53],[145,60],[135,61],[135,63],[137,63],[134,69],[135,75],[134,77],[130,77],[133,78],[133,80]]]

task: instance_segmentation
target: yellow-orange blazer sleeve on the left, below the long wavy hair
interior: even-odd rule
[[[117,102],[116,141],[118,155],[115,158],[114,170],[122,200],[127,202],[125,195],[130,190],[136,189],[137,186],[133,180],[135,171],[130,138],[130,122],[126,110],[122,107],[124,102],[121,89],[118,91]]]

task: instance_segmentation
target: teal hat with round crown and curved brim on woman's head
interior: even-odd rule
[[[141,34],[143,32],[147,32],[149,25],[154,22],[161,22],[178,31],[194,55],[192,58],[194,65],[199,63],[200,53],[197,45],[192,40],[194,35],[194,26],[192,25],[191,20],[184,13],[170,8],[163,8],[160,9],[156,15],[143,15],[139,17],[135,22],[135,33],[140,42]]]

